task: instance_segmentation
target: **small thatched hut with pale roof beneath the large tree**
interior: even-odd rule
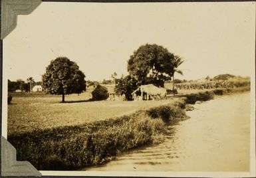
[[[156,100],[164,98],[166,96],[166,90],[164,88],[158,88],[153,84],[139,86],[134,92],[132,97],[134,100]]]

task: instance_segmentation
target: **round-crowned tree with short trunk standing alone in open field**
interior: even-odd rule
[[[48,94],[80,94],[86,90],[84,73],[79,70],[76,62],[66,57],[58,57],[52,60],[43,74],[42,86]]]

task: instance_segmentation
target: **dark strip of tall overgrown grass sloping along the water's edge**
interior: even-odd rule
[[[190,101],[210,100],[214,94],[232,92],[217,90],[179,96],[172,104],[109,120],[11,134],[8,141],[17,149],[17,160],[30,161],[39,170],[99,165],[122,151],[163,142],[168,124],[188,118],[185,109]]]

